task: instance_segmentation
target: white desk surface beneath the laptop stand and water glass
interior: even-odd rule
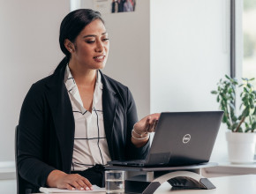
[[[171,190],[169,183],[163,183],[155,194],[255,194],[256,175],[234,175],[209,178],[215,184],[215,190]],[[1,180],[0,192],[4,194],[16,194],[15,180]],[[88,192],[89,193],[89,192]],[[99,194],[105,192],[99,192]],[[61,193],[60,193],[61,194]],[[66,194],[66,193],[65,193]]]

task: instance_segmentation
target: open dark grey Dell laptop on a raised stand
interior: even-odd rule
[[[173,167],[208,162],[223,111],[163,112],[146,160],[112,160],[110,165]]]

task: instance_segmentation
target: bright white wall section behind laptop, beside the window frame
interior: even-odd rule
[[[151,112],[218,109],[210,92],[230,73],[229,2],[150,1]],[[213,159],[226,157],[224,131]]]

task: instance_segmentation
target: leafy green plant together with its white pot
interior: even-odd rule
[[[252,163],[256,143],[256,91],[251,84],[254,78],[242,78],[242,83],[238,83],[236,78],[225,77],[211,93],[217,95],[216,101],[224,111],[222,123],[230,130],[226,132],[230,162]],[[236,109],[238,89],[241,90],[239,110]]]

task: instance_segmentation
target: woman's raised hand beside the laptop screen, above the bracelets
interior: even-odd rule
[[[159,116],[160,113],[154,113],[145,116],[138,123],[134,124],[133,130],[140,135],[145,135],[149,132],[154,132]]]

